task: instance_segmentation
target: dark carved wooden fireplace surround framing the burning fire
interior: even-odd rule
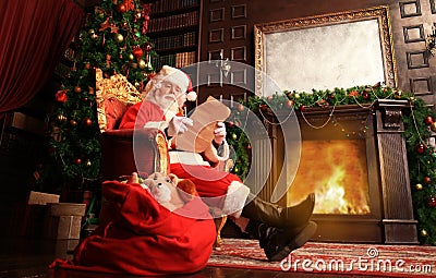
[[[362,121],[371,118],[365,142],[367,148],[367,167],[372,213],[364,216],[354,215],[314,215],[318,223],[313,240],[334,242],[373,242],[417,244],[416,220],[413,219],[412,197],[407,159],[402,113],[408,109],[407,100],[378,100],[375,105],[346,105],[335,107],[335,119],[342,122]],[[310,108],[303,114],[296,112],[302,138],[316,136],[318,130],[310,125],[322,125],[331,114],[332,108]],[[278,113],[281,113],[279,111]],[[289,111],[282,111],[289,113]],[[266,113],[263,113],[265,116]],[[271,113],[269,113],[271,116]],[[286,117],[279,116],[284,119]],[[253,159],[258,169],[265,171],[265,164],[271,162],[272,169],[261,197],[269,200],[276,181],[282,169],[286,169],[283,155],[283,131],[275,117],[264,120],[272,147],[272,159],[266,161],[262,148],[266,142],[253,144]],[[310,124],[307,124],[310,122]],[[271,124],[272,123],[272,124]],[[269,143],[268,143],[269,144]],[[259,154],[259,155],[255,155]],[[288,205],[284,196],[279,201]]]

